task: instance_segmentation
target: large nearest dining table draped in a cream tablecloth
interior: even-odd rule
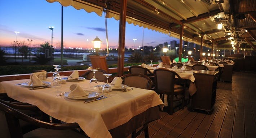
[[[54,86],[51,77],[43,80],[50,82],[50,86],[45,88],[31,89],[30,86],[15,85],[26,81],[30,79],[0,82],[0,93],[6,93],[14,100],[36,105],[58,120],[76,122],[91,138],[127,137],[141,125],[160,119],[160,110],[164,106],[160,97],[147,89],[128,86],[132,90],[124,92],[113,89],[109,93],[100,93],[89,87],[90,80],[87,79],[67,80],[61,86]],[[57,96],[59,93],[69,92],[74,83],[88,92],[107,98],[85,103],[88,99],[74,99],[67,94]]]

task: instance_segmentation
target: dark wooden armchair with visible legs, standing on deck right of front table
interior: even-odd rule
[[[163,102],[164,95],[167,95],[167,102],[170,109],[169,114],[173,114],[173,101],[182,99],[182,109],[184,109],[186,80],[182,79],[176,72],[164,68],[155,69],[154,75],[155,92],[160,93],[160,98],[162,98]],[[182,86],[175,84],[175,76],[178,77],[180,83],[183,83]],[[174,100],[175,95],[182,95],[182,97]]]

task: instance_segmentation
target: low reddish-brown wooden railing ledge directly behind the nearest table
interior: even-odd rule
[[[128,71],[129,66],[124,67],[124,71]],[[78,70],[79,76],[83,75],[85,72],[88,72],[89,70]],[[63,71],[59,72],[59,75],[65,75],[69,76],[73,70],[70,71]],[[109,68],[109,73],[117,73],[117,68]],[[52,77],[53,72],[48,72],[47,77]],[[8,81],[8,80],[18,80],[18,79],[29,79],[31,73],[29,74],[15,74],[15,75],[2,75],[0,76],[0,82],[2,81]]]

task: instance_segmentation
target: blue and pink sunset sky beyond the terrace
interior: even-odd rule
[[[31,46],[50,43],[52,31],[48,26],[54,26],[53,46],[61,44],[61,4],[48,3],[46,0],[1,0],[0,1],[0,45],[11,46],[16,41],[25,42],[32,39]],[[119,35],[119,20],[107,18],[109,46],[117,48]],[[134,48],[142,46],[143,28],[126,24],[125,46]],[[64,47],[93,47],[94,38],[100,38],[102,48],[106,47],[106,32],[104,14],[87,13],[76,10],[72,6],[63,7],[63,45]],[[88,42],[86,40],[89,40]],[[160,43],[177,40],[159,32],[144,29],[144,46],[156,46]],[[177,40],[178,41],[178,40]]]

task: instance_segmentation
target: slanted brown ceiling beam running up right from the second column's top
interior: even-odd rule
[[[198,17],[190,17],[190,18],[187,18],[187,20],[181,20],[182,23],[193,23],[193,22],[197,22],[199,20],[203,20],[203,19],[207,19],[209,18],[209,16],[211,15],[215,15],[217,13],[220,13],[220,9],[217,9],[217,10],[213,10],[211,11],[210,13],[203,13],[203,14],[200,14],[198,15]]]

